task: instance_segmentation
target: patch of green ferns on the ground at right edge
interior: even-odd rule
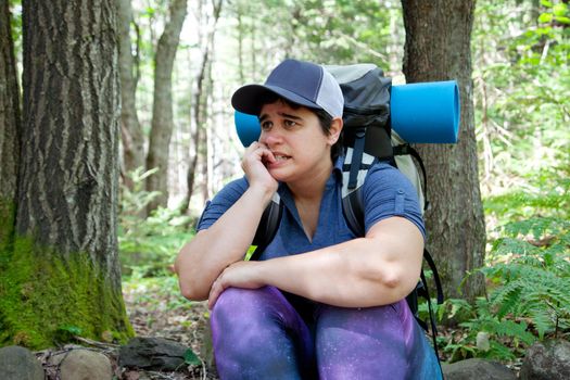
[[[444,346],[451,362],[467,357],[511,360],[536,339],[570,331],[570,221],[533,217],[510,221],[493,241],[494,262],[480,268],[489,297],[470,305],[447,300],[436,308],[466,331]],[[489,345],[478,344],[482,333]]]

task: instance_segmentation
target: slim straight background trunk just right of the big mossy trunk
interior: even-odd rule
[[[137,115],[137,78],[132,71],[135,60],[131,52],[130,23],[132,8],[130,0],[116,0],[118,26],[118,69],[121,77],[121,136],[123,141],[123,178],[132,189],[129,172],[144,167],[144,136]]]

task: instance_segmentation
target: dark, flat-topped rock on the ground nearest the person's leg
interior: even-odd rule
[[[134,338],[121,347],[118,365],[126,368],[175,371],[185,368],[187,346],[164,338]]]

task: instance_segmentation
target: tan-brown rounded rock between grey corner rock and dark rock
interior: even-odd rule
[[[101,353],[79,349],[58,356],[61,360],[61,380],[111,380],[113,378],[111,360]]]

